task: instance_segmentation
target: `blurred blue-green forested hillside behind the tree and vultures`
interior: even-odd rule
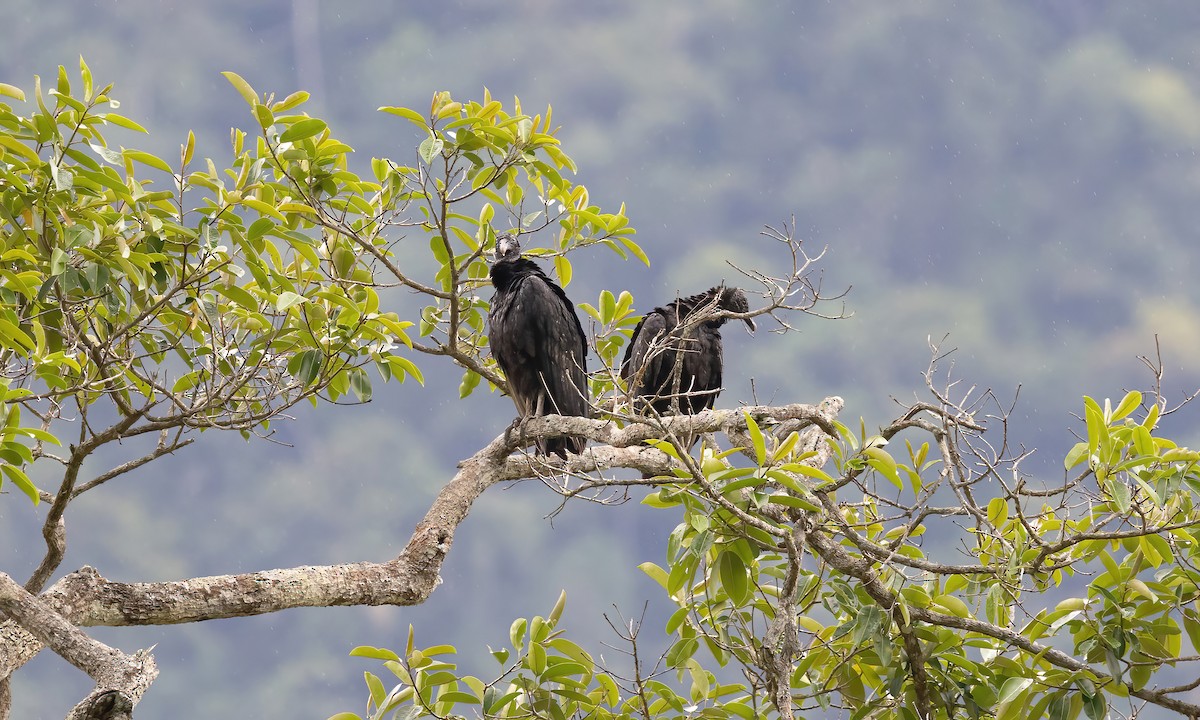
[[[922,390],[929,338],[949,334],[964,389],[1020,386],[1010,440],[1054,481],[1080,396],[1146,386],[1156,335],[1168,386],[1200,385],[1200,4],[7,0],[5,18],[0,82],[30,88],[82,54],[150,128],[128,144],[164,156],[191,128],[198,155],[227,158],[229,128],[253,124],[223,70],[311,91],[364,168],[420,139],[379,106],[485,86],[553,104],[577,180],[626,204],[653,262],[576,257],[576,302],[629,289],[646,310],[737,282],[726,260],[769,272],[786,258],[758,230],[794,215],[853,317],[731,329],[722,407],[752,378],[764,402],[842,395],[842,419],[870,427]],[[394,556],[514,414],[494,394],[458,401],[452,367],[422,370],[426,388],[301,412],[278,443],[209,433],[106,487],[68,518],[64,568],[166,580]],[[1166,432],[1195,444],[1198,426],[1188,408]],[[401,644],[409,623],[420,642],[497,647],[564,587],[568,626],[599,649],[601,613],[658,599],[635,565],[661,559],[670,527],[636,503],[544,520],[554,506],[534,484],[485,496],[428,606],[97,635],[158,643],[142,718],[325,718],[360,707],[352,647]],[[0,496],[0,569],[18,578],[42,511]],[[14,677],[13,716],[61,718],[86,685],[44,654]]]

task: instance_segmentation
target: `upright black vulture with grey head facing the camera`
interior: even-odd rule
[[[550,414],[589,416],[587,338],[566,293],[521,257],[515,235],[496,241],[492,284],[487,334],[517,406],[517,422]],[[582,452],[584,443],[581,437],[548,438],[538,443],[538,451],[565,460],[568,450]]]

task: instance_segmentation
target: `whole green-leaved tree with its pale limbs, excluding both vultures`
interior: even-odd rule
[[[503,389],[481,295],[498,230],[548,238],[535,254],[563,286],[581,248],[649,260],[624,208],[602,210],[570,179],[548,107],[528,115],[485,90],[380,108],[424,137],[410,158],[373,158],[362,178],[352,148],[304,112],[306,94],[276,100],[226,77],[254,124],[233,131],[228,167],[198,160],[192,136],[178,162],[110,146],[112,127],[143,128],[83,61],[78,83],[61,70],[28,96],[0,85],[29,108],[0,106],[0,472],[49,505],[37,570],[23,588],[2,576],[6,676],[46,643],[97,682],[79,712],[110,689],[136,703],[154,659],[80,626],[421,602],[479,494],[538,478],[564,502],[637,492],[682,515],[662,562],[641,568],[677,607],[670,649],[641,655],[647,628],[617,622],[632,662],[611,667],[558,626],[565,599],[512,624],[486,680],[410,632],[402,650],[355,650],[397,679],[389,690],[367,676],[372,716],[1200,713],[1200,454],[1162,434],[1182,406],[1162,394],[1160,364],[1147,392],[1085,398],[1063,479],[1045,482],[1009,443],[1009,406],[960,389],[937,348],[924,398],[877,432],[839,420],[836,397],[637,415],[617,361],[634,298],[616,288],[581,305],[595,320],[604,367],[589,382],[604,415],[530,421],[467,457],[395,560],[140,586],[80,570],[47,589],[71,503],[199,431],[268,434],[296,403],[366,400],[372,377],[421,380],[427,362],[461,368],[462,397],[484,380]],[[761,299],[742,314],[786,330],[830,298],[814,276],[821,253],[792,227],[766,235],[785,262],[742,270]],[[420,298],[412,317],[389,310],[389,287]],[[564,432],[592,445],[563,460],[520,451]],[[120,462],[85,466],[118,443]],[[30,472],[47,466],[56,472]]]

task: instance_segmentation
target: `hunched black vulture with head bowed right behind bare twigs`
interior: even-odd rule
[[[712,408],[721,392],[721,325],[728,318],[698,324],[689,319],[721,310],[749,312],[750,304],[740,289],[719,286],[646,313],[634,328],[620,365],[620,377],[630,383],[632,395],[646,398],[661,415],[695,415]],[[750,318],[745,323],[755,329]]]

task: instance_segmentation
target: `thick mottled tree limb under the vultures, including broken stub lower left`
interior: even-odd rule
[[[745,432],[745,414],[767,430],[786,424],[788,431],[817,426],[833,433],[829,418],[840,408],[841,400],[830,398],[821,406],[755,406],[697,415],[625,418],[623,426],[587,418],[533,419],[524,424],[523,432],[500,436],[463,461],[418,523],[403,552],[385,563],[302,566],[151,583],[112,582],[85,566],[59,580],[41,598],[0,576],[0,612],[8,618],[0,624],[0,678],[7,678],[48,646],[97,680],[96,690],[72,710],[72,719],[128,718],[157,674],[152,658],[126,656],[89,638],[78,628],[194,623],[292,607],[418,605],[440,583],[442,563],[472,504],[497,482],[614,468],[668,474],[677,461],[644,445],[647,439],[682,433],[740,434]],[[565,461],[514,455],[522,443],[564,433],[581,434],[599,444]]]

